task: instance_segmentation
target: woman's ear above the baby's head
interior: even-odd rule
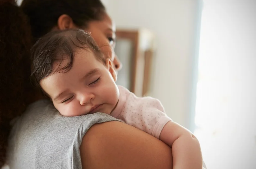
[[[66,14],[63,14],[58,18],[57,24],[60,30],[77,28],[73,22],[73,19]]]

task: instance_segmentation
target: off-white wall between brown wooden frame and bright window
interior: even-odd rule
[[[117,28],[146,27],[156,35],[153,97],[189,127],[197,0],[103,0]]]

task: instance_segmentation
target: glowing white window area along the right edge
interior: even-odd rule
[[[256,169],[255,16],[255,0],[204,3],[195,135],[208,169]]]

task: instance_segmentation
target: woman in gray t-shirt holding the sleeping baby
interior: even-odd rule
[[[57,11],[59,5],[61,8],[68,7],[67,12],[73,11],[69,9],[74,3],[71,0],[59,1],[57,5],[54,5],[57,0],[41,0],[39,4],[35,0],[26,0],[22,8],[30,17],[35,38],[37,38],[36,30],[40,30],[40,25],[43,26],[42,31],[46,30],[45,32],[72,28],[72,26],[85,26],[86,29],[91,29],[92,36],[102,47],[105,55],[114,59],[114,41],[112,40],[114,28],[106,13],[101,11],[104,6],[100,1],[98,5],[103,8],[95,6],[96,1],[86,1],[88,10],[85,8],[85,11],[91,9],[91,12],[85,14],[80,22],[79,17],[74,17],[72,12],[63,12],[56,17],[49,14]],[[83,2],[84,0],[79,1],[76,5],[82,6]],[[4,44],[3,46],[1,44],[3,53],[1,53],[0,63],[1,68],[2,66],[6,68],[1,69],[0,72],[1,80],[2,77],[6,77],[6,82],[0,84],[1,99],[8,100],[3,102],[4,104],[1,100],[0,105],[1,166],[6,162],[6,143],[9,135],[7,164],[10,168],[172,168],[170,148],[154,137],[103,113],[63,117],[50,102],[38,100],[36,97],[38,92],[31,90],[28,80],[30,45],[29,27],[24,19],[25,16],[17,6],[11,3],[5,2],[0,5],[0,11],[6,14],[1,15],[0,18],[10,23],[6,24],[6,29],[1,27],[0,34],[1,43]],[[35,9],[34,13],[28,10],[29,7]],[[45,9],[49,12],[45,12]],[[15,17],[14,12],[17,13]],[[37,12],[42,16],[37,16]],[[95,19],[98,12],[101,18]],[[49,14],[47,22],[40,23],[44,21],[40,17],[47,17],[44,16],[45,14]],[[35,20],[32,19],[33,17]],[[49,26],[51,18],[55,19],[52,23],[53,27]],[[86,18],[88,20],[84,20]],[[39,24],[38,27],[33,24],[36,22]],[[9,30],[10,28],[14,29]],[[106,40],[109,41],[108,44]],[[120,68],[118,60],[115,60],[115,65],[117,69]],[[4,90],[6,92],[2,92]],[[28,95],[28,91],[31,91],[31,96]],[[23,113],[25,107],[31,102],[33,103]],[[20,117],[15,118],[20,114],[22,114]],[[10,121],[12,129],[9,133]]]

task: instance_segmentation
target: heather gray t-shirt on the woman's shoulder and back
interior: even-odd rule
[[[118,120],[104,113],[64,117],[50,101],[34,102],[14,121],[7,164],[10,169],[80,169],[83,136],[93,124],[106,121]]]

